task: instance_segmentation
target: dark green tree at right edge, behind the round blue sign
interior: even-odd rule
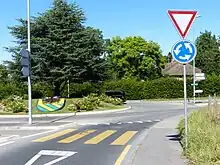
[[[215,35],[205,31],[196,40],[196,67],[206,74],[220,74],[220,44]]]

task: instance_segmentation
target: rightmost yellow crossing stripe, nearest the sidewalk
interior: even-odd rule
[[[125,145],[136,133],[137,131],[127,131],[112,142],[111,145]]]

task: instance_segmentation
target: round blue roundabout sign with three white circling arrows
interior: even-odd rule
[[[191,62],[196,57],[196,53],[196,46],[188,40],[176,42],[171,50],[174,60],[181,64]]]

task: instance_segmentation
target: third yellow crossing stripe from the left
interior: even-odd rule
[[[109,137],[110,135],[112,135],[115,132],[117,132],[117,131],[116,130],[107,130],[107,131],[100,133],[99,135],[93,137],[92,139],[86,141],[84,144],[98,144],[99,142],[106,139],[107,137]]]

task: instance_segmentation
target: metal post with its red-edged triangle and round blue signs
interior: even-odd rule
[[[187,110],[187,88],[186,88],[186,64],[196,57],[196,46],[194,43],[184,40],[196,17],[197,11],[168,10],[169,17],[183,40],[178,41],[172,47],[171,54],[175,61],[183,64],[184,85],[184,119],[185,119],[185,149],[188,146],[188,110]]]

